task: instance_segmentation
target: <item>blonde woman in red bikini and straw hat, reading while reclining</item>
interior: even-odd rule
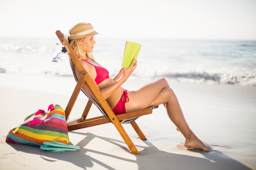
[[[92,51],[96,43],[94,35],[98,34],[94,31],[92,25],[90,23],[78,23],[69,30],[69,33],[70,46],[116,115],[163,104],[177,130],[184,135],[184,146],[186,148],[211,150],[189,128],[177,97],[166,79],[159,78],[145,84],[136,91],[127,91],[121,85],[126,82],[135,70],[137,61],[135,62],[134,59],[130,67],[121,68],[119,73],[111,78],[108,76],[108,71],[101,67],[92,57]],[[76,75],[79,77],[78,74]]]

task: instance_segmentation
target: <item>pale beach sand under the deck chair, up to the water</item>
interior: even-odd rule
[[[124,87],[133,90],[144,83],[134,78]],[[27,115],[52,103],[65,108],[74,84],[73,77],[0,74],[0,170],[256,170],[256,86],[170,82],[189,126],[211,152],[184,148],[163,106],[137,120],[146,141],[124,125],[139,155],[129,151],[112,124],[69,132],[69,144],[81,147],[77,151],[5,142]],[[81,116],[86,102],[81,93],[70,119]],[[95,115],[101,113],[93,106],[89,117]]]

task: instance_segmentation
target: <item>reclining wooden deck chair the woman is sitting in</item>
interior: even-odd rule
[[[90,126],[96,126],[100,124],[106,124],[111,123],[114,124],[118,132],[120,133],[121,137],[123,137],[124,141],[130,148],[131,152],[134,154],[139,154],[139,151],[135,147],[135,145],[132,143],[130,137],[127,135],[126,131],[124,130],[123,126],[121,124],[127,124],[130,123],[132,127],[135,129],[137,134],[139,135],[141,140],[146,140],[146,137],[141,132],[140,128],[137,126],[135,120],[142,116],[152,113],[152,110],[154,108],[157,108],[158,106],[151,106],[149,108],[145,108],[138,111],[133,111],[130,113],[125,113],[121,115],[115,115],[106,102],[106,99],[101,95],[98,86],[93,82],[90,75],[85,71],[83,65],[81,64],[78,57],[76,57],[76,54],[71,49],[67,39],[65,36],[61,33],[61,31],[56,31],[56,35],[58,39],[61,41],[63,46],[65,46],[65,49],[67,50],[67,53],[70,57],[70,65],[72,67],[72,71],[74,74],[74,78],[77,82],[74,91],[72,93],[72,96],[70,97],[70,100],[67,104],[67,107],[65,109],[66,114],[66,120],[68,120],[68,117],[70,116],[70,113],[72,111],[72,108],[76,102],[76,99],[80,93],[80,91],[83,91],[83,93],[88,97],[88,103],[85,106],[85,109],[83,111],[83,114],[80,118],[67,121],[67,128],[69,131],[77,130],[81,128],[87,128]],[[80,77],[77,77],[75,74],[76,71],[80,74]],[[103,116],[94,117],[90,119],[86,119],[90,107],[92,106],[92,103],[99,108],[101,113],[103,113]]]

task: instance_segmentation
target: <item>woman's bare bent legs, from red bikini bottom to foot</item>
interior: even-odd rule
[[[126,103],[127,111],[130,108],[138,107],[146,108],[152,105],[164,104],[168,117],[173,121],[178,130],[184,135],[184,146],[186,148],[194,148],[210,151],[211,149],[205,146],[198,137],[189,128],[189,125],[184,118],[182,109],[178,99],[165,79],[157,79],[156,81],[141,87],[139,90],[130,92],[130,101]],[[146,104],[146,106],[144,106]],[[130,110],[131,111],[131,110]]]

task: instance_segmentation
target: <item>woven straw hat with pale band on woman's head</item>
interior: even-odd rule
[[[70,30],[69,30],[69,36],[68,39],[74,40],[79,38],[85,38],[89,35],[96,35],[98,34],[92,27],[92,24],[80,22],[75,24]]]

